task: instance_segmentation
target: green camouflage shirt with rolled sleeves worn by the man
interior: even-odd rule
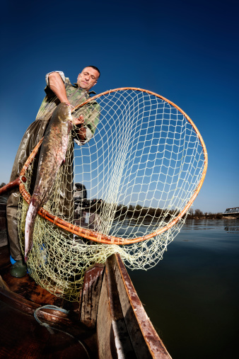
[[[59,74],[61,76],[63,75],[62,80],[64,81],[64,85],[66,88],[66,96],[72,106],[75,107],[78,104],[85,102],[86,100],[88,100],[88,98],[91,97],[91,93],[95,93],[94,91],[88,92],[84,89],[81,89],[81,87],[78,87],[78,84],[72,85],[68,77],[65,78],[62,72],[59,72]],[[49,88],[48,85],[45,87],[45,93],[46,96],[42,101],[40,109],[37,113],[36,120],[49,120],[49,118],[51,118],[52,116],[54,109],[57,107],[57,105],[59,105],[59,98],[55,96],[54,92]],[[88,142],[95,134],[95,130],[100,119],[100,106],[95,101],[87,103],[81,108],[78,108],[78,110],[76,110],[72,114],[74,118],[78,118],[80,115],[83,115],[83,127],[86,127],[86,141],[78,141],[77,135],[74,135],[74,139],[79,145]]]

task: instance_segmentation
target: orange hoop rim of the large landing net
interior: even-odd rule
[[[121,87],[121,88],[118,88],[118,89],[105,91],[103,93],[99,93],[98,95],[89,98],[84,103],[81,103],[81,105],[76,106],[71,112],[73,113],[76,109],[81,108],[82,106],[86,105],[86,103],[89,103],[89,102],[95,100],[96,98],[99,98],[100,96],[107,95],[108,93],[112,93],[112,92],[116,92],[116,91],[127,91],[127,90],[146,92],[146,93],[149,93],[149,94],[151,94],[153,96],[161,98],[163,101],[165,101],[167,103],[170,103],[170,105],[177,108],[177,110],[179,110],[180,113],[182,113],[182,115],[184,115],[185,118],[187,118],[188,122],[190,122],[190,124],[194,128],[195,132],[197,133],[197,136],[199,137],[199,141],[202,144],[202,149],[203,149],[203,152],[204,152],[204,170],[202,172],[202,178],[201,178],[196,190],[194,190],[192,198],[190,198],[189,202],[187,203],[187,205],[185,205],[185,207],[180,212],[180,214],[177,215],[177,217],[175,217],[175,219],[172,222],[165,225],[165,227],[162,227],[161,229],[158,229],[155,232],[147,234],[144,237],[137,237],[137,238],[134,238],[134,239],[128,239],[128,238],[124,239],[124,238],[121,238],[121,237],[114,237],[114,236],[110,236],[110,235],[101,234],[99,232],[93,232],[91,229],[78,227],[78,226],[76,226],[74,224],[71,224],[69,222],[66,222],[66,221],[62,220],[61,218],[59,218],[57,216],[51,215],[49,212],[47,212],[47,210],[45,210],[42,207],[40,208],[40,210],[38,210],[38,212],[37,212],[38,215],[45,218],[45,220],[48,220],[49,222],[52,222],[57,227],[62,228],[62,229],[66,230],[68,232],[71,232],[73,234],[76,234],[79,237],[83,237],[83,238],[89,239],[91,241],[95,241],[95,242],[102,243],[102,244],[117,244],[117,245],[134,244],[134,243],[137,243],[137,242],[140,242],[140,241],[146,241],[146,239],[151,239],[153,237],[156,237],[158,234],[161,234],[161,233],[163,233],[165,231],[168,231],[168,229],[170,229],[175,224],[177,224],[177,222],[183,217],[183,215],[185,215],[187,210],[189,210],[190,206],[194,202],[195,198],[197,197],[197,195],[199,193],[199,190],[202,188],[202,183],[204,183],[204,179],[205,179],[205,176],[206,176],[206,169],[207,169],[207,165],[208,165],[208,155],[207,155],[207,152],[206,152],[206,146],[204,144],[204,140],[202,139],[202,136],[199,133],[199,130],[197,129],[196,125],[194,125],[194,122],[192,122],[191,118],[180,107],[175,105],[175,103],[173,103],[172,101],[169,101],[167,98],[165,98],[165,97],[163,97],[161,95],[158,95],[157,93],[154,93],[152,91],[148,91],[148,90],[144,90],[144,89],[138,89],[136,87]],[[33,152],[30,154],[27,161],[25,162],[25,164],[23,166],[23,169],[22,169],[22,171],[20,173],[20,180],[21,180],[21,178],[23,178],[25,176],[25,171],[28,169],[28,166],[31,164],[31,162],[33,161],[35,155],[37,154],[37,151],[40,148],[40,145],[42,144],[42,140],[43,140],[43,138],[40,140],[40,142],[38,142],[37,146],[35,147],[35,149],[33,149]],[[21,195],[23,196],[24,200],[29,205],[29,203],[30,203],[30,194],[25,189],[23,181],[20,181],[19,190],[20,190]]]

